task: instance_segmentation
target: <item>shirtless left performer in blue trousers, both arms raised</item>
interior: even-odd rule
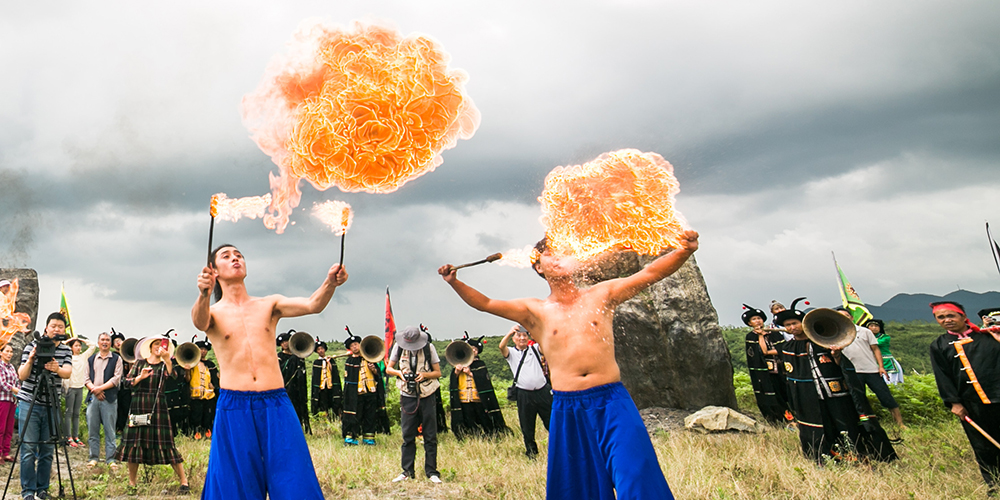
[[[198,274],[199,295],[191,309],[194,326],[215,346],[220,368],[202,498],[321,499],[272,342],[279,319],[322,312],[347,272],[333,265],[309,297],[252,297],[244,284],[246,261],[236,247],[216,248],[209,262]],[[210,304],[213,289],[217,302]]]

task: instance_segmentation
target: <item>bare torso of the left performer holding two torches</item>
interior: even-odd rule
[[[248,297],[239,304],[223,299],[212,305],[206,333],[219,360],[223,389],[260,392],[285,386],[274,348],[278,297]]]

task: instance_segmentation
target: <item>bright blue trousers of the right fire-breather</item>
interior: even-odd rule
[[[546,498],[673,498],[621,382],[552,396]]]

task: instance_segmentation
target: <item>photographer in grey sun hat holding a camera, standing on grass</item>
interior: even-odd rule
[[[437,398],[441,387],[441,360],[427,334],[408,326],[396,339],[385,372],[396,377],[399,388],[400,428],[403,431],[403,473],[393,482],[412,479],[417,455],[417,427],[423,425],[424,474],[432,483],[441,482],[437,470]],[[399,366],[397,369],[396,366]]]

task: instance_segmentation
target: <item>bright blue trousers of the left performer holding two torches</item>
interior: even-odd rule
[[[205,473],[206,499],[322,499],[306,437],[284,389],[222,389]]]

